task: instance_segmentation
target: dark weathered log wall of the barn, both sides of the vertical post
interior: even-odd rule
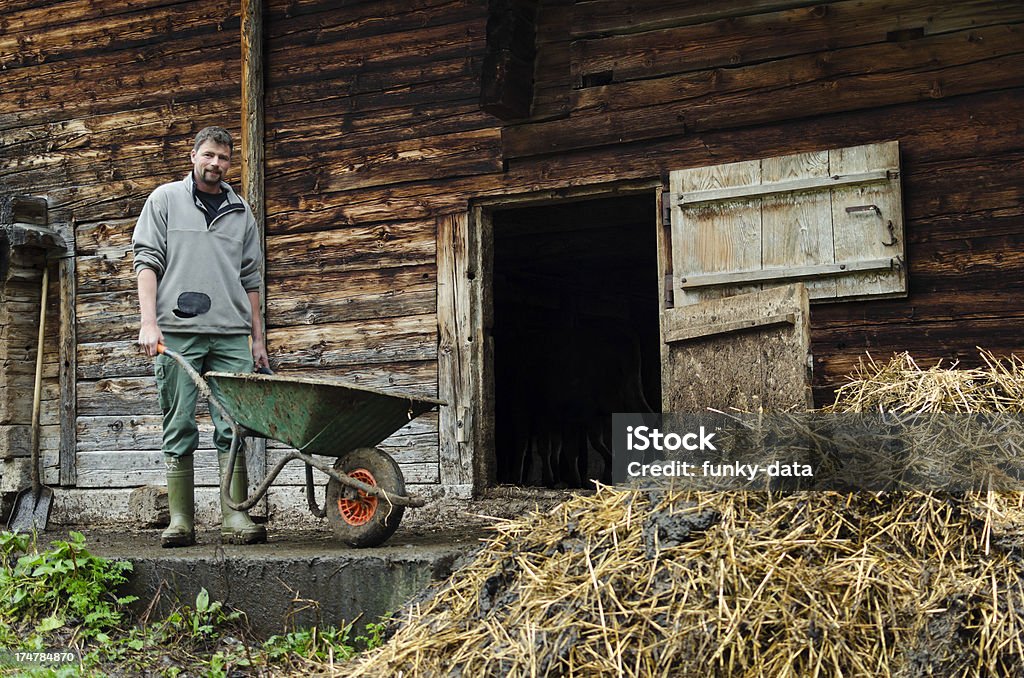
[[[487,2],[339,4],[270,0],[264,17],[279,369],[435,393],[436,219],[474,199],[890,139],[909,296],[815,305],[817,384],[865,349],[1020,350],[1021,3],[545,0],[531,116],[511,125],[479,108]],[[80,474],[95,484],[157,477],[134,218],[187,170],[191,135],[237,130],[240,108],[233,3],[123,5],[0,10],[0,192],[76,224]],[[419,481],[439,477],[435,431],[397,453]]]

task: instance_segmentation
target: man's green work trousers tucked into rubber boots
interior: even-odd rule
[[[179,353],[200,374],[207,372],[253,371],[253,354],[249,336],[244,334],[164,334],[164,345]],[[187,457],[199,447],[196,425],[196,398],[199,388],[170,355],[157,356],[157,391],[160,410],[164,414],[165,455]],[[216,394],[216,390],[214,390]],[[213,442],[217,451],[226,453],[231,446],[231,428],[210,408],[213,417]]]

